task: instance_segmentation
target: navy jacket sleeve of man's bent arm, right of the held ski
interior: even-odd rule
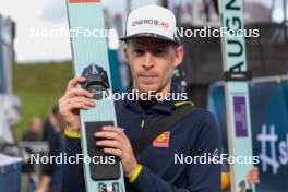
[[[191,156],[214,154],[220,148],[219,125],[212,113],[207,113],[197,125],[197,139],[191,146]],[[196,147],[196,148],[194,148]],[[143,167],[132,183],[141,192],[220,192],[220,164],[190,164],[187,169],[188,184],[176,187]]]

